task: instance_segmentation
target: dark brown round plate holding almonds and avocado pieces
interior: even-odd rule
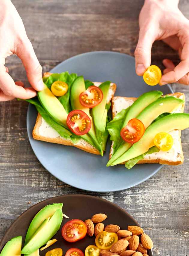
[[[139,226],[139,224],[131,217],[126,211],[121,209],[116,204],[106,201],[102,198],[90,196],[90,195],[61,195],[53,198],[49,198],[38,204],[35,204],[23,214],[21,214],[9,227],[5,233],[3,239],[0,242],[0,251],[8,240],[15,236],[22,236],[22,246],[26,236],[27,229],[35,214],[38,213],[47,204],[63,203],[62,211],[69,219],[63,218],[63,226],[68,220],[71,219],[90,219],[92,215],[96,213],[105,213],[107,219],[103,221],[104,225],[116,224],[121,229],[127,229],[128,226]],[[61,228],[54,236],[58,241],[51,247],[40,252],[40,256],[45,256],[45,253],[54,248],[62,248],[63,255],[69,248],[79,248],[85,252],[85,248],[88,245],[95,245],[95,237],[85,236],[84,239],[75,243],[66,242],[61,236]],[[148,253],[149,256],[153,256],[152,250]]]

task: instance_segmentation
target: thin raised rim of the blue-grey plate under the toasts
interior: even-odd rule
[[[66,60],[64,60],[64,61],[62,61],[62,62],[60,62],[58,65],[56,65],[55,67],[53,67],[49,72],[54,72],[53,70],[55,69],[55,68],[57,68],[57,67],[59,67],[62,63],[67,63],[68,61],[70,61],[70,60],[72,60],[72,59],[76,59],[76,58],[79,58],[80,56],[83,56],[83,55],[93,55],[93,54],[115,54],[115,55],[121,55],[121,56],[127,56],[128,58],[131,58],[131,59],[134,59],[134,57],[133,56],[131,56],[131,55],[128,55],[128,54],[125,54],[125,53],[120,53],[120,52],[115,52],[115,51],[92,51],[92,52],[84,52],[84,53],[81,53],[81,54],[78,54],[78,55],[75,55],[75,56],[72,56],[72,57],[70,57],[70,58],[68,58],[68,59],[66,59]],[[173,89],[172,89],[172,87],[170,86],[170,84],[167,84],[166,85],[169,89],[170,89],[170,91],[171,91],[171,93],[173,93]],[[33,148],[33,145],[31,144],[31,141],[30,140],[32,140],[33,138],[29,135],[29,120],[28,120],[28,115],[29,115],[29,111],[30,111],[30,108],[32,107],[32,105],[29,103],[29,106],[28,106],[28,110],[27,110],[27,116],[26,116],[26,126],[27,126],[27,135],[28,135],[28,139],[29,139],[29,142],[30,142],[30,145],[31,145],[31,147],[32,147],[32,150],[33,150],[33,152],[34,152],[34,154],[35,154],[35,149]],[[40,157],[38,157],[36,154],[35,154],[35,156],[36,156],[36,158],[38,159],[38,161],[41,163],[41,161],[40,161]],[[131,188],[131,187],[134,187],[134,186],[137,186],[137,185],[139,185],[139,184],[141,184],[141,183],[143,183],[144,181],[146,181],[146,180],[148,180],[149,178],[151,178],[153,175],[155,175],[164,165],[160,165],[153,173],[151,173],[151,174],[149,174],[148,176],[146,176],[144,179],[142,179],[142,180],[140,180],[140,182],[136,182],[136,183],[134,183],[133,185],[128,185],[128,186],[122,186],[121,188],[119,188],[119,189],[107,189],[107,190],[102,190],[102,189],[90,189],[90,188],[83,188],[82,186],[77,186],[77,185],[72,185],[72,184],[70,184],[70,182],[65,182],[65,181],[63,181],[62,180],[62,178],[61,177],[59,177],[59,175],[58,174],[54,174],[54,173],[52,173],[50,170],[49,170],[49,168],[46,166],[46,164],[42,164],[41,163],[41,165],[52,175],[52,176],[54,176],[55,178],[57,178],[58,180],[60,180],[60,181],[62,181],[62,182],[64,182],[65,184],[67,184],[67,185],[69,185],[69,186],[72,186],[72,187],[75,187],[75,188],[77,188],[77,189],[82,189],[82,190],[84,190],[84,191],[90,191],[90,192],[101,192],[101,193],[104,193],[104,192],[116,192],[116,191],[122,191],[122,190],[125,190],[125,189],[129,189],[129,188]]]

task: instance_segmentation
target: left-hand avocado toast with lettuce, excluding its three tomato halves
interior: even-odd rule
[[[59,79],[65,80],[69,84],[69,90],[64,96],[58,97],[57,100],[55,96],[53,97],[49,88],[53,81]],[[46,87],[44,91],[38,92],[38,98],[35,101],[28,100],[36,106],[39,112],[32,133],[33,138],[74,146],[92,154],[103,155],[108,137],[106,130],[107,111],[110,108],[111,98],[116,91],[116,84],[109,81],[92,83],[88,80],[84,81],[82,76],[69,74],[68,72],[61,74],[45,73],[44,83]],[[79,103],[79,95],[91,85],[101,88],[104,97],[98,106],[89,110],[89,108],[84,108]],[[72,134],[66,124],[67,114],[74,109],[84,111],[91,118],[90,131],[80,137]],[[97,113],[98,118],[96,117]]]

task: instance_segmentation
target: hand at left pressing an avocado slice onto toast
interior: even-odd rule
[[[13,98],[27,99],[44,88],[42,67],[29,41],[22,20],[10,0],[2,0],[0,5],[0,101]],[[24,88],[22,82],[14,83],[4,66],[5,58],[16,54],[22,61],[30,88]],[[35,91],[36,90],[36,91]]]

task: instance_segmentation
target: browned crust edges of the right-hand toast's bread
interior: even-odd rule
[[[185,100],[185,95],[184,93],[181,93],[181,92],[175,92],[175,93],[169,93],[167,95],[170,95],[170,96],[174,96],[176,98],[179,98],[181,96],[183,96],[183,100]],[[115,100],[117,98],[125,98],[126,100],[133,100],[133,101],[136,101],[137,98],[135,97],[120,97],[120,96],[117,96],[117,97],[113,97],[112,98],[112,116],[113,118],[116,116],[116,113],[114,111],[114,104],[115,104]],[[184,111],[184,103],[182,105],[182,112]],[[111,145],[111,149],[113,147],[113,143]],[[183,151],[182,151],[182,144],[181,144],[181,141],[180,141],[180,148],[181,148],[181,154],[180,154],[180,157],[178,158],[178,161],[166,161],[166,160],[162,160],[162,159],[142,159],[140,160],[137,164],[166,164],[166,165],[179,165],[179,164],[183,164],[184,162],[184,155],[183,155]],[[109,155],[109,159],[112,157],[112,150],[110,149],[110,155]],[[122,163],[122,164],[125,164],[125,163]]]

